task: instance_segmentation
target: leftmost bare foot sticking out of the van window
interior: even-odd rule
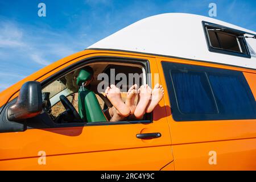
[[[108,86],[108,88],[106,88],[105,93],[109,101],[119,111],[119,114],[124,117],[130,114],[129,107],[123,103],[120,89],[118,89],[115,85],[110,85],[110,87]]]

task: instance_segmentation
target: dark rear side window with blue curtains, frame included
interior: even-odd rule
[[[175,121],[256,119],[242,72],[162,62]]]

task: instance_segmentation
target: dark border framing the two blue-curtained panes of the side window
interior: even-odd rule
[[[164,77],[166,80],[166,85],[168,89],[168,95],[171,105],[171,111],[172,111],[172,118],[176,122],[187,122],[187,121],[218,121],[218,120],[234,120],[234,119],[256,119],[256,115],[254,118],[246,118],[245,117],[239,118],[237,115],[232,114],[223,114],[220,110],[220,107],[218,107],[218,102],[216,100],[216,96],[214,95],[212,85],[210,84],[208,74],[214,73],[214,74],[220,74],[220,75],[230,75],[230,76],[238,76],[240,78],[243,86],[245,86],[246,92],[249,93],[249,98],[251,101],[255,101],[255,98],[253,96],[253,93],[251,92],[250,86],[248,82],[246,81],[245,76],[241,71],[233,71],[230,69],[222,69],[222,68],[213,68],[213,67],[204,67],[201,65],[192,65],[192,64],[181,64],[181,63],[173,63],[170,61],[162,61],[162,68]],[[177,97],[175,93],[174,88],[174,82],[172,81],[171,77],[171,71],[177,70],[177,69],[187,69],[188,71],[196,71],[196,72],[204,72],[207,75],[208,84],[210,86],[210,90],[213,94],[214,102],[217,106],[217,113],[213,114],[183,114],[179,111],[179,106],[177,102]],[[170,84],[168,84],[170,83]]]

